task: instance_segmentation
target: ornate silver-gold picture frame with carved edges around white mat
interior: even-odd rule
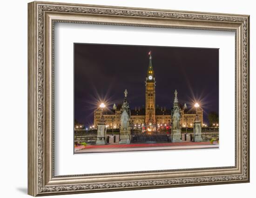
[[[54,23],[57,22],[235,32],[235,166],[56,176],[54,173],[56,158],[54,156],[54,119],[56,119],[54,118]],[[231,118],[227,117],[227,119]],[[51,2],[28,4],[29,195],[243,182],[249,182],[248,15]]]

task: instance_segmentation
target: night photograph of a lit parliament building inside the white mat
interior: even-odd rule
[[[74,153],[219,147],[219,49],[74,44]]]

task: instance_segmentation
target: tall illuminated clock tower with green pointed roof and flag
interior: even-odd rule
[[[152,66],[151,51],[148,52],[149,65],[146,77],[146,104],[145,104],[145,122],[146,124],[155,124],[155,75]]]

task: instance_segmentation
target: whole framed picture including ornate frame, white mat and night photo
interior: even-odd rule
[[[249,15],[27,10],[29,195],[249,182]]]

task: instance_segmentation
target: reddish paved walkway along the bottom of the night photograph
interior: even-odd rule
[[[215,142],[216,143],[216,142]],[[75,147],[75,153],[106,153],[106,152],[129,152],[129,151],[154,151],[154,150],[177,150],[177,149],[203,149],[218,148],[218,144],[210,142],[165,142],[165,143],[141,143],[141,144],[107,144],[87,145]]]

